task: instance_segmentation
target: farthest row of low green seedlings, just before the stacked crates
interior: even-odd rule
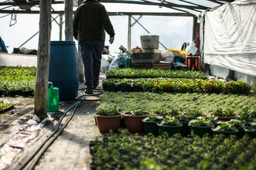
[[[107,78],[202,78],[207,76],[200,71],[175,71],[168,69],[111,69],[106,72]]]

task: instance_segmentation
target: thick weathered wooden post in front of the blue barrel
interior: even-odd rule
[[[34,96],[34,114],[38,116],[40,120],[47,117],[47,89],[51,43],[51,3],[52,0],[40,0],[39,39]]]

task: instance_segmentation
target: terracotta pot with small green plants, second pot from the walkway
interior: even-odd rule
[[[125,124],[128,131],[131,133],[144,132],[143,122],[141,120],[148,117],[148,115],[151,115],[151,113],[142,110],[125,112],[123,116],[125,117]]]

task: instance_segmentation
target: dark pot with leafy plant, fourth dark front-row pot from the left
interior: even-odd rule
[[[214,136],[216,134],[224,134],[225,136],[229,136],[229,135],[236,135],[238,134],[238,129],[236,128],[236,126],[234,124],[231,124],[230,122],[222,122],[220,125],[218,125],[217,127],[212,127],[212,132],[214,134]]]

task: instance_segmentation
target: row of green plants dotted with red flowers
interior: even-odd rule
[[[185,78],[140,78],[115,79],[109,78],[104,84],[131,84],[141,85],[145,92],[198,92],[198,93],[224,93],[249,94],[251,86],[243,81],[222,82],[217,80],[185,79]]]

